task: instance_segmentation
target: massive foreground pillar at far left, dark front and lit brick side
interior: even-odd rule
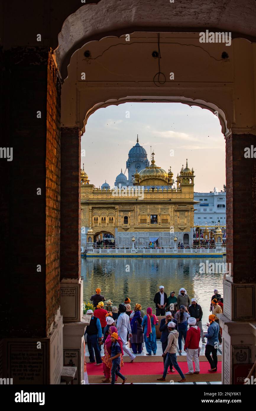
[[[13,155],[0,160],[2,376],[14,384],[57,384],[60,80],[47,49],[19,47],[3,57],[1,146]]]

